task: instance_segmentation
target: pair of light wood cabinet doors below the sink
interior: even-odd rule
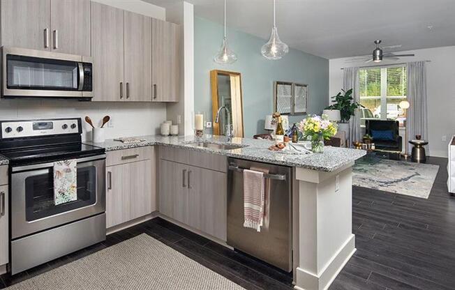
[[[226,241],[227,174],[160,161],[160,212]]]

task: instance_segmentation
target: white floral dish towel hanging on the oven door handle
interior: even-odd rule
[[[54,203],[66,204],[77,200],[77,160],[54,162]]]

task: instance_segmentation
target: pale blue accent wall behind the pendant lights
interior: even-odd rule
[[[231,21],[232,20],[231,18]],[[252,20],[254,21],[254,20]],[[195,112],[204,112],[211,120],[210,70],[230,70],[241,73],[244,105],[245,137],[264,132],[265,115],[273,107],[274,81],[308,84],[308,113],[321,114],[329,105],[329,60],[290,49],[278,61],[264,59],[260,53],[266,42],[248,33],[227,29],[230,48],[237,54],[237,62],[219,65],[214,55],[221,47],[223,26],[195,17],[194,31],[194,85]],[[279,32],[279,29],[278,29]],[[304,116],[290,116],[290,123]]]

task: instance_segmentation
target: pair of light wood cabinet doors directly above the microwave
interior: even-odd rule
[[[89,0],[1,0],[1,45],[90,55]]]

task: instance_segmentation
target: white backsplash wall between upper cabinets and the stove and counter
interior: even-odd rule
[[[0,100],[0,120],[82,118],[82,140],[91,140],[91,126],[83,121],[90,116],[101,125],[103,116],[110,115],[112,128],[105,137],[158,135],[160,124],[166,119],[165,103],[151,102],[77,102],[74,100]]]

